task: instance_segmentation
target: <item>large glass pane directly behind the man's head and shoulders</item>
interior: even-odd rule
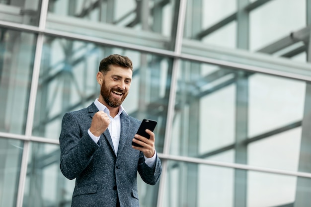
[[[96,73],[99,62],[110,54],[122,54],[133,62],[133,80],[123,107],[135,118],[158,121],[156,150],[162,151],[171,77],[170,59],[81,41],[45,39],[34,136],[58,139],[63,115],[87,107],[98,98]]]

